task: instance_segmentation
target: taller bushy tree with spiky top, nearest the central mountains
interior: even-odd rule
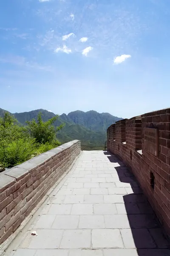
[[[35,138],[36,142],[39,144],[56,144],[58,143],[57,140],[57,131],[61,130],[61,128],[65,124],[61,124],[58,127],[55,127],[53,124],[57,120],[59,116],[54,116],[53,118],[49,119],[48,121],[44,122],[42,120],[42,113],[38,113],[37,122],[35,119],[32,121],[27,121],[28,131],[31,137]]]

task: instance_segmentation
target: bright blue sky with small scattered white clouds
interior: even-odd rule
[[[170,106],[169,0],[0,1],[0,108]]]

